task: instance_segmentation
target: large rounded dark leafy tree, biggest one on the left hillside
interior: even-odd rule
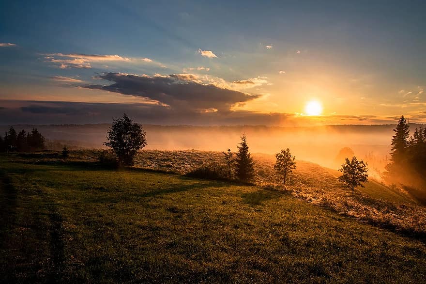
[[[124,113],[122,119],[114,119],[104,144],[116,154],[119,163],[132,165],[137,151],[147,144],[145,134],[142,125],[133,123]]]

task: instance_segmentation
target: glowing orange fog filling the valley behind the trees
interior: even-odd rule
[[[107,124],[99,125],[16,125],[17,131],[37,127],[48,139],[74,147],[104,148]],[[350,147],[355,156],[366,160],[369,168],[382,171],[387,163],[393,125],[373,126],[158,126],[146,125],[147,149],[157,150],[237,150],[242,133],[247,135],[251,153],[275,154],[289,148],[297,159],[337,168],[343,161],[336,155]],[[416,126],[412,126],[414,128]],[[1,133],[8,126],[0,126]]]

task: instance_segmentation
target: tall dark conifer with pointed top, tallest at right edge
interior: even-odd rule
[[[402,115],[394,129],[395,135],[392,137],[391,156],[393,162],[397,163],[405,158],[405,153],[409,144],[408,138],[410,137],[409,128],[410,126],[407,124],[404,115]]]

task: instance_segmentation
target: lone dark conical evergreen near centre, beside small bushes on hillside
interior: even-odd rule
[[[250,181],[254,178],[254,162],[248,151],[247,137],[243,133],[241,142],[237,146],[238,152],[235,158],[235,174],[242,181]]]

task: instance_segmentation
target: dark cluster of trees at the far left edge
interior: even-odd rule
[[[0,152],[39,151],[45,148],[45,141],[37,128],[27,133],[24,129],[16,132],[14,127],[10,127],[4,137],[0,136]]]

